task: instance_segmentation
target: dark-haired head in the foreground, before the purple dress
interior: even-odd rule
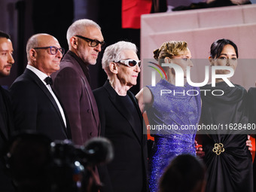
[[[160,192],[202,191],[205,175],[206,166],[197,157],[181,154],[172,160],[160,178]]]

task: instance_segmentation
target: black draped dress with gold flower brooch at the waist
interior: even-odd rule
[[[245,144],[245,130],[240,129],[248,123],[247,92],[239,85],[229,87],[225,82],[216,84],[216,87],[206,85],[201,90],[211,90],[201,92],[201,123],[218,127],[216,130],[205,131],[207,135],[201,136],[208,169],[206,191],[251,192],[251,153]],[[212,90],[222,90],[224,94],[213,96]]]

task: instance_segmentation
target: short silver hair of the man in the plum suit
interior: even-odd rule
[[[95,23],[93,20],[87,19],[76,20],[74,23],[72,23],[71,26],[69,26],[69,29],[67,31],[69,48],[71,47],[70,38],[72,38],[72,36],[81,35],[82,33],[86,32],[87,27],[89,26],[93,26],[101,30],[100,26],[97,23]]]

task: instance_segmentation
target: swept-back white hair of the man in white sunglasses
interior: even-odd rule
[[[109,70],[110,62],[117,62],[124,59],[123,50],[133,50],[135,53],[137,53],[136,44],[127,41],[118,41],[117,43],[106,47],[102,56],[102,69],[105,70],[107,75],[111,75]]]

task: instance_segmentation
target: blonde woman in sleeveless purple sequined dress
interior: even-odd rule
[[[191,53],[185,41],[167,41],[154,50],[154,58],[161,63],[174,63],[180,66],[186,80],[187,66],[192,67]],[[171,130],[157,131],[149,157],[149,189],[158,190],[158,181],[171,160],[179,154],[196,155],[194,139],[197,130],[182,130],[181,127],[196,125],[200,120],[200,90],[184,84],[175,86],[175,70],[163,67],[166,79],[161,79],[155,87],[144,87],[137,95],[141,111],[147,111],[151,126],[165,125],[175,127]],[[162,94],[161,90],[171,90],[171,94]],[[190,90],[190,94],[186,94]],[[185,94],[173,94],[185,93]],[[197,94],[198,93],[198,94]],[[195,96],[191,96],[195,95]],[[197,95],[197,96],[196,96]]]

